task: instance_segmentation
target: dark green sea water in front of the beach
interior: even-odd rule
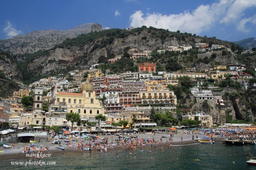
[[[182,146],[180,149],[167,149],[154,153],[148,152],[151,148],[143,148],[143,152],[129,154],[129,151],[119,151],[116,156],[115,151],[108,153],[94,154],[63,154],[50,158],[43,158],[42,161],[56,161],[56,165],[11,165],[11,161],[0,161],[1,169],[54,169],[54,170],[254,170],[256,166],[248,166],[246,153],[250,152],[256,156],[256,146],[228,146],[222,143],[196,144]],[[137,150],[139,151],[139,150]],[[64,151],[65,152],[65,151]],[[87,151],[88,152],[88,151]],[[147,154],[149,153],[149,155]],[[136,158],[134,157],[136,156]],[[195,160],[196,159],[196,160]],[[18,160],[18,161],[28,161]],[[38,161],[38,160],[36,160]]]

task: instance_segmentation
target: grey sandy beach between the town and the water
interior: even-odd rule
[[[151,140],[153,137],[155,139],[155,141],[159,141],[161,136],[169,136],[169,134],[159,134],[156,133],[155,136],[153,133],[146,133],[146,134],[135,134],[132,136],[138,136],[139,139],[148,139]],[[202,138],[205,135],[198,135],[198,139]],[[100,136],[100,137],[108,137],[109,142],[111,143],[111,139],[113,141],[113,143],[115,142],[114,140],[118,138],[118,136],[115,135],[104,135],[104,136]],[[130,135],[124,135],[124,137],[130,137]],[[183,138],[183,141],[181,141],[181,137]],[[35,143],[35,146],[39,146],[40,147],[50,147],[49,150],[43,151],[43,154],[51,154],[51,156],[59,156],[59,155],[65,155],[65,154],[82,154],[80,153],[79,150],[77,150],[76,146],[74,146],[74,148],[68,147],[68,145],[66,145],[66,143],[64,142],[64,139],[62,140],[62,147],[65,148],[65,150],[61,150],[56,148],[56,144],[52,144],[53,139],[50,140],[50,143]],[[82,138],[80,138],[79,140],[82,140]],[[168,140],[168,138],[162,138],[163,143],[161,145],[163,145],[164,147],[166,147],[166,140]],[[83,144],[87,144],[90,143],[90,141],[83,141]],[[194,140],[192,140],[192,135],[174,135],[173,137],[173,145],[189,145],[189,144],[194,144],[197,143],[196,141],[196,135],[194,135]],[[116,150],[122,151],[122,146],[117,146],[116,143],[114,143],[115,145],[112,145],[113,149],[110,149],[109,146],[107,146],[108,148],[108,152],[116,152]],[[12,159],[32,159],[30,157],[26,157],[26,153],[22,153],[22,150],[26,147],[30,147],[29,143],[18,143],[18,144],[10,144],[10,146],[15,145],[15,149],[4,149],[3,147],[0,147],[0,159],[1,160],[12,160]],[[76,145],[76,141],[71,141],[71,145]],[[93,143],[92,143],[93,145]],[[156,143],[153,144],[153,146],[159,148],[161,145],[158,145]],[[150,145],[142,145],[142,146],[137,146],[137,150],[140,148],[148,148],[147,150],[150,150],[151,146]],[[33,151],[33,149],[30,147],[30,152]],[[39,150],[38,149],[38,150]],[[38,150],[34,150],[35,153],[38,152]],[[89,154],[88,150],[84,150],[83,154]],[[94,154],[94,152],[92,152],[92,154]]]

